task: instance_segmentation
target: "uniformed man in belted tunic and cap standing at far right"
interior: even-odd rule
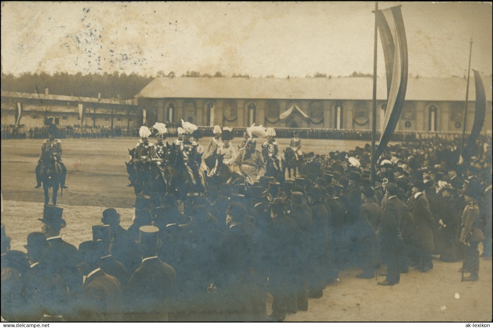
[[[481,197],[481,193],[481,183],[478,180],[470,181],[464,192],[464,199],[467,205],[464,212],[462,212],[462,230],[460,231],[459,241],[466,245],[462,270],[471,273],[470,276],[463,279],[464,281],[477,281],[479,279],[478,245],[485,239],[480,227],[477,202],[477,199]]]

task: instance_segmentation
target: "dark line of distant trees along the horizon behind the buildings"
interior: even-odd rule
[[[175,72],[168,74],[159,71],[157,76],[175,77]],[[200,73],[196,71],[187,71],[181,74],[181,77],[225,77],[221,72],[215,74]],[[331,78],[331,75],[324,73],[315,73],[313,77]],[[306,77],[312,77],[307,75]],[[350,77],[371,77],[371,74],[353,72]],[[251,77],[249,74],[234,73],[231,77]],[[274,77],[267,75],[265,77]],[[289,77],[289,76],[288,76]],[[340,77],[340,76],[339,76]],[[139,74],[125,73],[104,73],[104,74],[87,74],[82,73],[24,73],[20,76],[13,74],[1,74],[1,90],[26,92],[26,93],[44,93],[48,88],[52,95],[64,95],[75,97],[98,97],[101,93],[101,98],[116,98],[116,99],[132,99],[138,94],[154,76],[141,76]]]

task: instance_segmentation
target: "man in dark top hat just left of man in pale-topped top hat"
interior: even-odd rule
[[[92,231],[93,241],[101,241],[99,245],[103,248],[99,266],[106,274],[118,279],[121,286],[125,286],[128,281],[127,270],[111,254],[111,231],[109,225],[93,225]]]

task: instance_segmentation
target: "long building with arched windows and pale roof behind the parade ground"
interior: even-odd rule
[[[485,85],[490,85],[485,80]],[[377,82],[377,128],[386,111],[386,81]],[[466,80],[409,78],[396,130],[462,131]],[[492,130],[492,90],[483,131]],[[158,77],[136,96],[142,121],[201,126],[257,125],[292,128],[371,129],[372,78],[167,78]],[[467,129],[474,121],[469,87]]]

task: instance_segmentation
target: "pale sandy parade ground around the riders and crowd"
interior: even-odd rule
[[[170,138],[171,139],[171,138]],[[126,187],[124,161],[127,148],[137,138],[63,140],[63,160],[68,169],[69,189],[59,196],[67,227],[62,237],[76,246],[92,237],[91,226],[100,224],[106,207],[121,214],[122,226],[132,223],[135,195]],[[206,143],[205,138],[203,143]],[[171,141],[171,140],[170,140]],[[280,149],[288,140],[280,139]],[[327,153],[364,146],[365,141],[303,140],[305,151]],[[35,189],[35,165],[42,140],[1,141],[1,189],[4,212],[1,222],[12,238],[12,249],[24,251],[28,233],[40,230],[42,188]],[[233,145],[239,144],[235,139]],[[481,245],[480,245],[481,248]],[[420,273],[410,268],[400,283],[378,286],[375,279],[357,279],[359,269],[348,268],[324,290],[310,299],[309,310],[288,315],[286,321],[491,321],[492,261],[481,258],[478,282],[460,282],[461,262],[445,263],[434,258],[434,269]],[[379,276],[378,281],[385,277]],[[270,313],[268,298],[268,313]]]

